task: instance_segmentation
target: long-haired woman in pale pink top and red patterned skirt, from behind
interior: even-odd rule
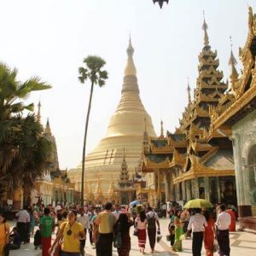
[[[140,252],[144,254],[146,240],[147,240],[147,216],[144,211],[139,213],[139,216],[136,218],[136,229],[137,229],[137,239],[138,239],[138,247],[140,248]]]

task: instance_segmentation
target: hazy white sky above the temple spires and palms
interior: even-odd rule
[[[0,61],[19,69],[19,79],[38,75],[53,85],[30,102],[42,103],[57,142],[61,168],[81,161],[90,84],[79,84],[87,55],[107,61],[107,84],[96,89],[90,115],[89,152],[104,137],[120,98],[131,32],[143,104],[154,129],[174,131],[187,104],[187,78],[195,87],[203,46],[205,10],[212,49],[229,76],[230,35],[238,47],[247,38],[247,4],[255,0],[171,0],[163,9],[152,0],[0,0]],[[238,64],[241,69],[241,63]]]

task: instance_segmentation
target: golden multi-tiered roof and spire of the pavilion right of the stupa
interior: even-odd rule
[[[230,155],[224,154],[220,147],[211,145],[206,139],[211,127],[211,111],[218,108],[219,100],[224,97],[228,84],[222,81],[223,72],[218,70],[217,51],[212,51],[209,44],[206,20],[202,28],[204,46],[198,58],[199,75],[194,98],[191,99],[188,84],[189,102],[180,119],[180,126],[174,133],[167,131],[166,137],[163,137],[161,132],[157,139],[144,143],[147,148],[144,148],[143,172],[171,169],[173,183],[199,176],[235,175],[232,160],[230,165],[225,166],[226,170],[218,172],[219,161],[228,162]],[[234,63],[232,65],[235,65],[234,59],[231,59]],[[230,145],[229,142],[228,144]],[[227,150],[231,152],[231,148]],[[212,157],[215,157],[216,165],[207,164],[207,160]]]

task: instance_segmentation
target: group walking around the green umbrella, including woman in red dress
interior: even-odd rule
[[[230,255],[230,236],[232,214],[226,212],[224,204],[209,212],[207,209],[184,209],[173,207],[169,212],[170,224],[168,226],[172,250],[183,251],[182,240],[192,236],[192,254],[201,255],[204,247],[207,256],[213,256],[218,250],[220,256]]]

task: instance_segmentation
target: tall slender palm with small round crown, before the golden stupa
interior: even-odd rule
[[[82,156],[82,184],[81,184],[81,204],[84,206],[84,164],[85,164],[85,147],[87,130],[90,118],[91,99],[93,94],[94,85],[98,84],[102,87],[105,84],[105,80],[108,79],[108,72],[102,70],[102,67],[106,64],[106,61],[96,55],[89,55],[84,59],[85,67],[79,67],[79,81],[84,84],[87,79],[90,79],[90,99],[88,103],[85,131],[84,131],[84,145]]]

